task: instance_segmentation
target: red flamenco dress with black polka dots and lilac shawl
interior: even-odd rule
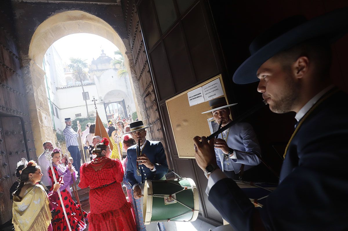
[[[62,176],[64,184],[61,185],[60,191],[66,211],[66,215],[68,216],[70,228],[72,231],[80,231],[84,230],[86,228],[85,218],[87,217],[87,213],[85,211],[82,211],[83,214],[81,214],[80,206],[76,205],[76,203],[71,198],[71,192],[70,192],[70,183],[72,183],[72,175],[68,169],[68,167],[64,167],[62,165],[57,166],[53,164],[54,173],[56,176],[56,179],[59,180]],[[52,181],[52,185],[54,184],[54,179],[52,175],[52,171],[49,168],[48,169],[48,176],[50,180]],[[73,177],[76,180],[77,172],[75,171],[73,173]],[[52,190],[50,188],[50,190]],[[57,201],[58,207],[55,209],[55,215],[52,218],[52,228],[53,231],[68,231],[69,228],[66,224],[62,203],[60,200]]]

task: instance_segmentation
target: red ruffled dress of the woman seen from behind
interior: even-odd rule
[[[122,190],[120,160],[97,157],[80,168],[80,188],[89,187],[88,230],[136,230],[131,205]]]

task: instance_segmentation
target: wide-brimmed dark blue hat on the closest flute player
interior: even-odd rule
[[[304,16],[287,18],[254,39],[249,47],[251,56],[238,67],[233,81],[237,84],[256,82],[259,67],[278,52],[315,38],[332,43],[347,32],[348,7],[311,20]]]

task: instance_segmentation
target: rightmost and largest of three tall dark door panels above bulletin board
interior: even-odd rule
[[[201,2],[182,19],[187,43],[192,57],[197,80],[207,79],[218,72],[212,41],[208,33],[207,19]]]

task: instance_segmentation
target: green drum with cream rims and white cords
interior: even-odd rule
[[[144,223],[196,221],[199,201],[195,182],[190,178],[145,181]]]

